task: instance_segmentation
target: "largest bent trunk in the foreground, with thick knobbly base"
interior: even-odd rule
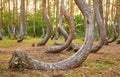
[[[14,66],[16,65],[17,66],[26,65],[28,67],[31,67],[32,69],[65,70],[65,69],[78,67],[83,61],[85,61],[93,45],[93,34],[94,34],[93,18],[92,18],[91,10],[89,9],[88,5],[85,3],[84,0],[74,0],[74,1],[79,7],[79,9],[82,11],[85,18],[86,34],[85,34],[85,41],[82,47],[73,56],[55,63],[46,63],[46,62],[38,61],[30,57],[26,52],[21,50],[16,50],[10,61],[9,68],[15,68]]]

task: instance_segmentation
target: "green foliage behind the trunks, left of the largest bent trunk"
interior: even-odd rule
[[[8,35],[8,30],[7,30],[7,26],[8,26],[8,12],[4,11],[3,13],[3,35],[7,36]],[[75,24],[75,37],[77,38],[83,38],[84,37],[84,19],[82,18],[82,16],[80,15],[76,15],[73,17],[74,18],[74,24]],[[18,18],[19,20],[19,18]],[[33,32],[33,23],[34,23],[34,14],[32,13],[28,13],[27,14],[27,21],[25,24],[25,27],[27,28],[27,35],[28,36],[33,36],[34,32]],[[51,34],[53,35],[55,32],[55,27],[56,27],[56,18],[50,16],[50,23],[51,23],[51,27],[52,27],[52,31]],[[11,29],[13,29],[13,27],[16,25],[16,19],[13,18],[13,14],[11,11]],[[37,36],[40,37],[42,36],[42,25],[44,25],[45,28],[45,32],[46,32],[46,28],[47,28],[47,23],[46,21],[42,20],[42,11],[37,10],[36,12],[36,32],[37,32]],[[67,20],[63,17],[63,26],[65,28],[65,30],[69,33],[69,24],[67,22]],[[19,29],[19,24],[17,26],[17,28]]]

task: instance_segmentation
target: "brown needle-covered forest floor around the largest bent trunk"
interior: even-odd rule
[[[35,39],[25,40],[19,44],[14,40],[0,41],[0,77],[120,77],[120,45],[116,43],[103,46],[97,53],[90,54],[81,66],[74,69],[6,71],[12,53],[18,48],[25,50],[33,58],[45,62],[61,61],[75,53],[73,51],[62,51],[55,54],[45,53],[46,46],[32,47],[32,43],[38,41]]]

